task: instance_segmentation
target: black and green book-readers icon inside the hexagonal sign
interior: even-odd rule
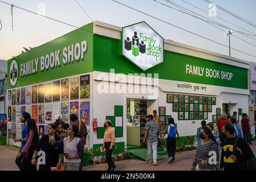
[[[132,40],[130,40],[129,37],[125,39],[124,48],[127,49],[127,51],[132,50],[133,56],[139,56],[139,53],[146,52],[146,44],[143,40],[140,42],[139,37],[137,36],[137,32],[134,32]]]

